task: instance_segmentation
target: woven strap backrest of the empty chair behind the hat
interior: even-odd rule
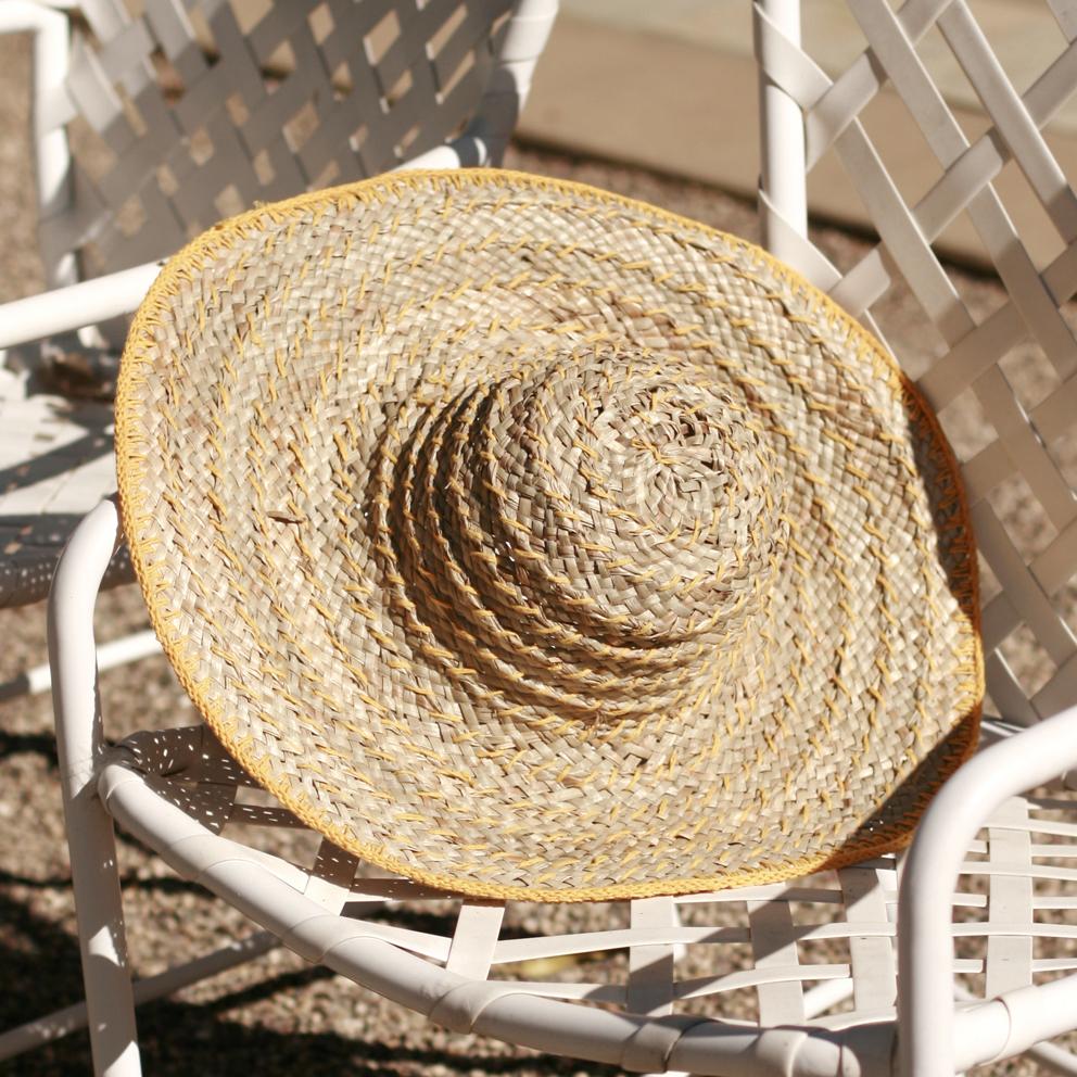
[[[484,106],[504,93],[490,80],[512,7],[83,0],[37,132],[40,152],[62,128],[69,152],[42,190],[52,282],[163,257],[256,201],[385,172],[459,135],[484,89]],[[533,24],[536,7],[548,23],[554,3],[524,0],[517,14]],[[544,39],[529,27],[528,68]]]

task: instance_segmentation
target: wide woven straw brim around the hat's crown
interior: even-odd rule
[[[690,720],[552,722],[533,694],[476,713],[378,552],[384,432],[446,369],[458,391],[521,339],[601,334],[761,404],[793,477],[785,575]],[[487,170],[254,210],[164,268],[116,414],[179,680],[283,804],[385,870],[540,901],[780,880],[902,846],[975,747],[976,555],[938,421],[827,296],[702,225]]]

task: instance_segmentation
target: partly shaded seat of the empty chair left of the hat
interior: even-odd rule
[[[23,365],[0,365],[0,608],[45,598],[75,525],[116,489],[111,402],[63,395]],[[124,547],[105,585],[132,579]]]

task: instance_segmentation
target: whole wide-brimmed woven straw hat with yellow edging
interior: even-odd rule
[[[215,734],[471,895],[775,880],[900,846],[983,694],[956,466],[763,251],[505,172],[252,211],[163,270],[124,525]]]

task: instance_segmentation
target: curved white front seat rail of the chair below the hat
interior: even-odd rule
[[[301,892],[296,869],[291,869],[295,878],[281,877],[269,858],[258,859],[254,850],[210,833],[141,775],[118,775],[121,770],[111,765],[102,774],[110,811],[182,877],[212,890],[304,960],[324,964],[436,1024],[638,1072],[668,1068],[666,1052],[673,1051],[668,1062],[674,1069],[724,1077],[785,1073],[769,1065],[776,1057],[776,1037],[765,1030],[700,1017],[650,1019],[537,998],[525,984],[469,979],[372,937],[362,920],[327,913]],[[702,1040],[682,1039],[700,1022],[707,1030]],[[796,1039],[797,1062],[810,1062],[804,1073],[841,1073],[840,1035],[799,1029]],[[682,1044],[683,1057],[676,1054]],[[692,1065],[683,1064],[686,1059]]]

